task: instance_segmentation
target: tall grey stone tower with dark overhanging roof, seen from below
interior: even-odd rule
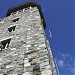
[[[10,8],[0,20],[0,75],[56,75],[38,3]]]

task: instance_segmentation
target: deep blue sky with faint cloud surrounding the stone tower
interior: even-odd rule
[[[8,8],[28,0],[0,0],[0,18]],[[41,4],[46,20],[46,36],[60,75],[74,74],[74,1],[35,0]],[[49,37],[49,30],[52,37]]]

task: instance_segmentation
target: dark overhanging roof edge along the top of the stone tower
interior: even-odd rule
[[[28,2],[25,2],[23,4],[20,4],[20,5],[17,5],[17,6],[14,6],[14,7],[9,8],[8,11],[7,11],[6,17],[7,16],[10,16],[10,14],[13,13],[13,12],[16,12],[18,10],[22,10],[22,9],[27,8],[27,7],[30,7],[30,6],[31,7],[37,6],[37,8],[39,9],[40,16],[43,19],[43,24],[44,24],[44,29],[45,29],[46,23],[45,23],[45,20],[44,20],[44,16],[43,16],[43,13],[42,13],[41,6],[40,6],[39,3],[35,2],[35,1],[32,1],[32,0],[30,0]]]

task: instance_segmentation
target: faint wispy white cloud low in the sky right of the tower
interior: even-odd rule
[[[71,55],[65,53],[59,53],[56,60],[57,60],[57,65],[60,68],[68,70],[71,73],[75,72],[74,71],[75,65],[73,65],[74,59]]]

